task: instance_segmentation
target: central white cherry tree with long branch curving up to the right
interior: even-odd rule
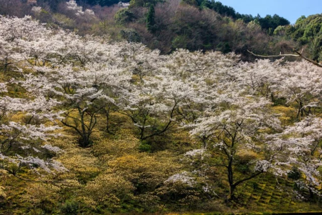
[[[193,87],[173,77],[142,80],[124,95],[121,113],[129,116],[145,140],[160,135],[181,122],[180,109],[194,98]]]

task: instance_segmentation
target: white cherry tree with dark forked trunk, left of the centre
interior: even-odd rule
[[[130,78],[121,70],[102,64],[88,68],[35,66],[33,70],[34,73],[25,75],[22,86],[33,95],[41,93],[61,101],[59,109],[64,116],[61,122],[79,134],[82,147],[91,146],[90,136],[96,126],[97,115],[115,103],[110,95],[117,93],[122,83],[129,82]]]

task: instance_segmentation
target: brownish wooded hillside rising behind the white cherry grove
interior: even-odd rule
[[[0,0],[0,14],[20,18],[31,15],[48,26],[79,35],[108,35],[114,41],[141,42],[162,54],[177,48],[233,51],[250,60],[254,58],[247,49],[276,54],[299,48],[295,41],[274,34],[278,26],[289,24],[278,15],[243,15],[220,2],[207,0],[114,3],[117,1],[79,1],[77,5],[64,0]]]

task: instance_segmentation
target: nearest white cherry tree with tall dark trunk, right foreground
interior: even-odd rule
[[[274,165],[272,154],[268,157],[261,155],[266,145],[261,144],[256,136],[260,135],[261,130],[280,129],[280,123],[274,115],[269,114],[270,102],[264,98],[238,95],[229,103],[226,101],[223,102],[225,108],[206,111],[197,123],[190,126],[193,127],[191,134],[202,140],[207,151],[215,150],[221,156],[222,163],[215,166],[226,169],[228,199],[232,199],[239,184],[267,172]],[[276,151],[274,148],[276,146],[271,150]],[[245,151],[257,154],[249,161],[253,170],[250,169],[248,176],[235,177],[238,156]]]

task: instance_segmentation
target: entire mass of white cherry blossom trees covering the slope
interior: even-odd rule
[[[73,0],[67,10],[94,15]],[[160,55],[139,43],[47,29],[27,16],[0,17],[0,67],[23,77],[10,84],[26,91],[24,99],[9,97],[8,83],[0,83],[0,116],[23,112],[30,122],[3,117],[0,132],[24,152],[59,152],[47,144],[30,145],[31,140],[46,141],[59,129],[58,122],[74,129],[82,147],[88,147],[98,115],[108,120],[113,109],[129,117],[141,140],[188,129],[203,149],[185,156],[222,158],[216,165],[227,169],[232,188],[244,181],[230,173],[237,158],[249,159],[251,178],[265,172],[286,175],[296,167],[307,186],[321,184],[322,71],[306,61],[242,62],[233,53],[183,49]],[[293,108],[296,121],[287,127],[272,108],[281,98]],[[0,155],[17,160],[4,150]],[[179,180],[195,183],[187,172],[167,182]]]

